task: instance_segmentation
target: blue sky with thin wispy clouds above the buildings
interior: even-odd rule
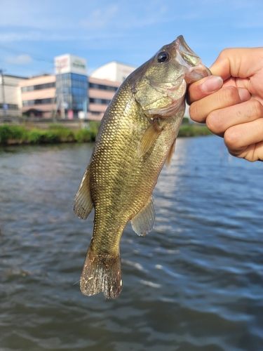
[[[53,58],[140,66],[182,34],[210,66],[223,48],[263,46],[262,0],[1,0],[0,69],[53,73]]]

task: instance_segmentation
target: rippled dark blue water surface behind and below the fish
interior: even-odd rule
[[[262,351],[263,164],[217,137],[177,140],[154,230],[127,225],[123,291],[105,300],[77,282],[93,215],[72,200],[91,148],[0,149],[0,350]]]

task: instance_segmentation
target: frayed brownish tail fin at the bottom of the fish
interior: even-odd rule
[[[81,293],[87,296],[104,293],[116,298],[122,290],[121,257],[97,255],[88,249],[81,274]]]

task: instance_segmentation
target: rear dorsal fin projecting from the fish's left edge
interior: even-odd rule
[[[79,185],[79,190],[73,202],[73,210],[76,216],[81,219],[86,219],[93,209],[93,201],[90,196],[90,171],[89,167],[86,169],[84,176]]]

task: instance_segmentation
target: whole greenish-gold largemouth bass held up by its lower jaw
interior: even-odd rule
[[[93,154],[74,199],[86,219],[95,208],[81,292],[121,293],[119,242],[130,220],[145,235],[154,227],[152,191],[170,164],[185,110],[187,84],[210,74],[182,36],[163,46],[123,81],[102,118]]]

